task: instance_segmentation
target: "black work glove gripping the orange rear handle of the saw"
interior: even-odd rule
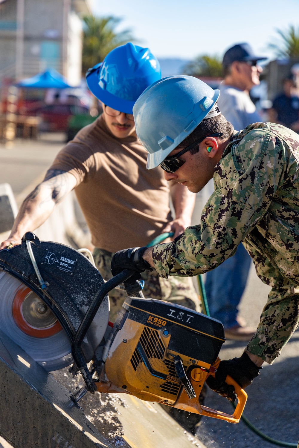
[[[215,378],[210,375],[206,383],[208,387],[221,396],[225,396],[229,401],[234,401],[237,394],[234,392],[232,384],[225,383],[227,375],[230,375],[241,388],[246,388],[256,376],[260,375],[260,369],[251,361],[247,353],[243,353],[241,358],[229,359],[228,361],[220,361],[219,367],[215,374]]]

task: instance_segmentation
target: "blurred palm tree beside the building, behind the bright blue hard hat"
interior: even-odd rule
[[[83,17],[82,72],[102,62],[113,48],[135,40],[130,30],[116,32],[119,17]]]

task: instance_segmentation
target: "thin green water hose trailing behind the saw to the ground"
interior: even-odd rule
[[[173,232],[165,232],[161,233],[158,237],[154,238],[150,243],[147,244],[147,247],[155,246],[156,244],[160,244],[162,241],[164,241],[166,238],[173,237]],[[201,275],[197,276],[198,281],[198,288],[199,288],[199,295],[201,298],[201,306],[203,309],[203,314],[206,316],[210,316],[210,310],[208,307],[208,301],[207,301],[207,295],[204,288],[204,282]],[[233,407],[236,408],[236,405],[232,403]],[[244,415],[241,416],[241,420],[245,425],[251,429],[254,433],[260,436],[261,439],[267,440],[270,444],[278,445],[280,447],[287,447],[287,448],[297,448],[298,444],[293,444],[289,442],[282,442],[280,440],[273,439],[272,437],[269,437],[269,435],[264,434],[262,431],[260,431],[256,426],[254,426]]]

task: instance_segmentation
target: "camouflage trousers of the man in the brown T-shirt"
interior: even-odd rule
[[[113,253],[107,252],[107,250],[104,249],[95,248],[93,256],[95,258],[95,266],[100,271],[104,280],[111,279],[112,273],[110,264]],[[200,311],[199,297],[190,277],[169,276],[168,279],[163,279],[158,276],[155,270],[152,272],[143,272],[141,275],[144,280],[143,294],[145,297],[166,300],[168,302],[186,306],[192,310]],[[126,293],[123,290],[113,289],[110,291],[111,321],[115,321],[117,313],[121,309],[121,305],[125,298]]]

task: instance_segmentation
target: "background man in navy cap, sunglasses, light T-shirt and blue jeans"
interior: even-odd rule
[[[223,57],[225,78],[219,86],[218,106],[237,131],[261,121],[249,91],[260,84],[262,69],[257,62],[262,59],[265,58],[256,56],[247,43],[234,45]],[[208,185],[208,188],[211,187],[213,189],[213,185]],[[210,314],[223,323],[227,339],[250,340],[255,332],[238,315],[238,304],[246,287],[250,266],[251,258],[240,244],[232,257],[207,272],[205,289]]]

